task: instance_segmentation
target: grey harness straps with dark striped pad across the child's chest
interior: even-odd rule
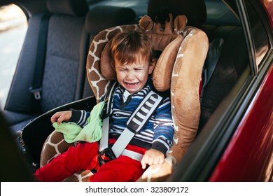
[[[117,84],[117,83],[116,83]],[[129,152],[125,151],[126,146],[130,143],[135,134],[141,132],[142,128],[146,125],[148,120],[153,116],[155,110],[158,109],[158,106],[163,101],[165,96],[159,95],[157,92],[151,90],[145,99],[139,104],[137,109],[132,113],[129,120],[127,121],[125,130],[120,137],[118,137],[117,141],[111,148],[108,146],[108,137],[109,137],[109,116],[111,113],[113,100],[113,90],[116,89],[116,84],[111,87],[108,95],[106,97],[106,118],[103,120],[102,125],[102,139],[99,143],[99,152],[100,154],[104,153],[106,156],[112,159],[118,158],[121,154],[125,152],[125,155],[130,155]]]

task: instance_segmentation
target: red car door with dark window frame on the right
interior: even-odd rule
[[[249,65],[170,181],[272,181],[272,1],[236,3]]]

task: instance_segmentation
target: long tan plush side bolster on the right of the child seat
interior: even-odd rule
[[[176,167],[193,143],[200,120],[199,87],[209,41],[204,31],[186,27],[172,71],[171,102],[174,119],[174,145],[167,155]]]

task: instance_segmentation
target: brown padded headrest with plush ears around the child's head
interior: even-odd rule
[[[159,91],[169,90],[172,78],[172,67],[176,59],[179,46],[183,41],[183,36],[179,34],[187,24],[184,15],[177,16],[174,20],[169,14],[169,22],[165,24],[155,23],[147,15],[139,21],[139,29],[144,31],[151,38],[153,50],[160,50],[158,61],[153,71],[153,83]],[[109,80],[116,80],[116,73],[111,66],[111,54],[109,48],[111,41],[106,43],[101,56],[102,75]]]

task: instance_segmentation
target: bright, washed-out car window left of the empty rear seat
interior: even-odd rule
[[[16,64],[27,32],[27,17],[14,4],[0,7],[0,109],[13,79]]]

